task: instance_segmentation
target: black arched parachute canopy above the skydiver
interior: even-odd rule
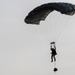
[[[27,24],[39,24],[41,20],[45,20],[49,13],[54,10],[65,15],[74,15],[75,5],[71,3],[47,3],[34,8],[24,19]]]

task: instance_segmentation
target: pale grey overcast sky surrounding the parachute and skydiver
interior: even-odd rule
[[[50,62],[47,37],[24,23],[29,11],[53,1],[57,0],[0,1],[0,75],[75,75],[75,15],[57,42],[57,73]]]

